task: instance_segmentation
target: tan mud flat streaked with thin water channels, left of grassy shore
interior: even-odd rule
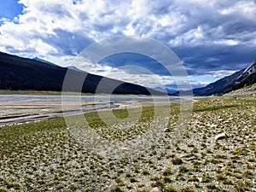
[[[80,109],[78,106],[80,104],[80,108],[84,113],[107,108],[107,106],[104,106],[106,103],[101,102],[0,102],[0,125],[13,125],[16,123],[61,117],[66,113],[78,113]],[[62,108],[64,105],[65,109]],[[111,108],[117,107],[118,105],[112,105]]]

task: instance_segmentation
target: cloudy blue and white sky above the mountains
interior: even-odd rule
[[[0,51],[37,56],[62,67],[74,65],[90,44],[116,35],[165,44],[183,63],[193,87],[230,75],[256,59],[255,0],[0,0],[0,4]],[[135,73],[136,68],[125,68],[128,64],[146,70]],[[120,53],[104,58],[97,67],[89,72],[152,88],[157,86],[154,79],[160,79],[160,84],[175,87],[172,75],[145,55]],[[118,69],[119,73],[111,73]]]

